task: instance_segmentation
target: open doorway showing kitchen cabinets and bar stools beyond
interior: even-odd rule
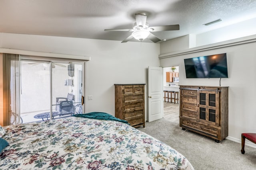
[[[164,118],[179,123],[179,66],[163,68],[163,86],[163,90],[166,91],[163,95],[166,97],[163,102]]]

